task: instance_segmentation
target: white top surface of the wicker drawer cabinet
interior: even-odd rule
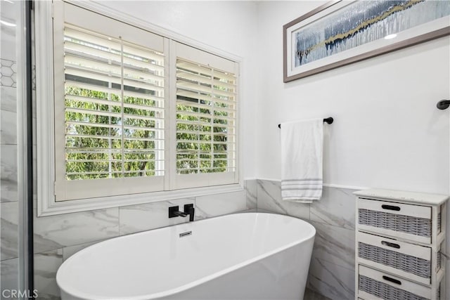
[[[395,200],[399,202],[420,203],[439,205],[449,199],[448,195],[428,194],[428,193],[415,193],[405,192],[401,190],[358,190],[354,192],[354,195],[358,197],[375,198],[379,200]]]

